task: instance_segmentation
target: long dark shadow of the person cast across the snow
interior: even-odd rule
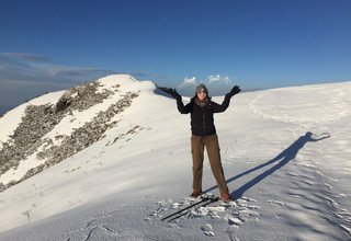
[[[242,194],[248,191],[249,188],[251,188],[252,186],[254,186],[256,184],[258,184],[259,182],[261,182],[263,179],[265,179],[267,176],[271,175],[273,172],[278,171],[279,169],[283,168],[285,164],[287,164],[291,160],[293,160],[297,152],[305,146],[305,144],[309,142],[309,141],[319,141],[326,138],[329,138],[330,136],[325,136],[318,139],[313,138],[313,133],[307,131],[304,136],[301,136],[297,140],[295,140],[290,147],[287,147],[284,151],[282,151],[280,154],[278,154],[275,158],[273,158],[272,160],[260,164],[253,169],[250,169],[246,172],[242,172],[236,176],[233,176],[231,179],[227,180],[227,183],[230,183],[244,175],[247,175],[251,172],[254,172],[259,169],[264,168],[265,165],[272,164],[274,162],[280,161],[278,164],[275,164],[274,167],[272,167],[271,169],[267,170],[265,172],[263,172],[262,174],[256,176],[254,179],[252,179],[251,181],[249,181],[248,183],[246,183],[245,185],[242,185],[241,187],[239,187],[238,190],[234,191],[230,195],[237,199],[242,197]],[[210,192],[215,190],[217,186],[213,186],[208,190],[206,190],[205,192]]]

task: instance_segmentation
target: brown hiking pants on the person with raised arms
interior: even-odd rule
[[[229,193],[222,168],[217,135],[191,137],[191,152],[193,157],[193,190],[202,191],[202,173],[205,147],[213,175],[215,176],[217,186],[219,188],[219,193]]]

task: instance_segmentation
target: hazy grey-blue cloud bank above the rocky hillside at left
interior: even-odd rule
[[[49,57],[41,55],[0,53],[0,106],[12,108],[45,92],[65,90],[112,73],[116,72],[56,65]]]

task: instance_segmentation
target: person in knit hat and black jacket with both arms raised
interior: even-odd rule
[[[192,197],[202,194],[202,175],[204,162],[204,149],[207,150],[211,169],[216,179],[220,198],[224,202],[230,200],[229,191],[224,176],[218,136],[214,125],[214,113],[220,113],[229,106],[230,97],[238,94],[241,90],[238,85],[234,87],[225,95],[222,104],[213,102],[208,95],[208,90],[204,84],[196,87],[195,96],[190,103],[184,105],[182,96],[177,93],[176,89],[163,89],[177,100],[178,111],[181,114],[191,114],[191,151],[193,158],[193,192]]]

